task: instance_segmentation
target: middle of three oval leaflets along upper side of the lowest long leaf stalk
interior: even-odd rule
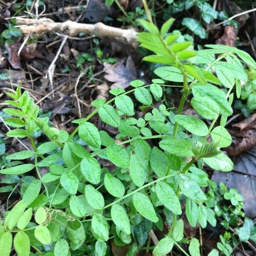
[[[110,173],[105,174],[104,186],[114,197],[120,198],[125,194],[125,187],[122,182]]]

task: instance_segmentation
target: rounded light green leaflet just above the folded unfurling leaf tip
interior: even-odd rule
[[[223,126],[217,126],[211,131],[212,141],[221,148],[226,148],[232,143],[232,137]]]

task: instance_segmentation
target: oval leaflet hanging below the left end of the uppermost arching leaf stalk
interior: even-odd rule
[[[78,128],[79,137],[86,142],[88,145],[99,148],[101,145],[101,140],[99,136],[99,130],[90,122],[85,122],[79,125]]]

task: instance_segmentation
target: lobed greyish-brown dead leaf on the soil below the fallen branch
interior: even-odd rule
[[[114,83],[111,85],[111,89],[117,87],[125,89],[130,86],[132,80],[137,79],[136,67],[131,56],[127,58],[125,65],[104,63],[104,67],[104,71],[107,73],[104,76],[105,79]]]

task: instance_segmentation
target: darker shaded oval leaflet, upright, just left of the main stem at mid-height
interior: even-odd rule
[[[150,154],[150,166],[158,177],[164,177],[168,169],[166,155],[157,147],[152,148]]]

